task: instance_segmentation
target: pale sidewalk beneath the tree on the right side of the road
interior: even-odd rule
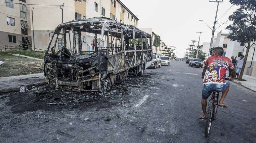
[[[246,81],[234,80],[233,82],[256,92],[256,77],[243,75],[243,79]]]

